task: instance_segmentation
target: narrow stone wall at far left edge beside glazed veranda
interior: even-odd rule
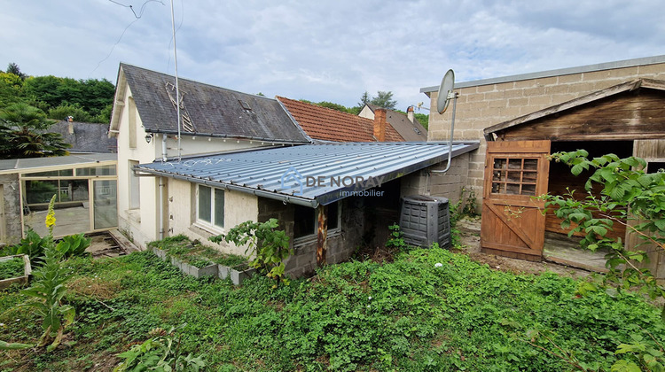
[[[19,174],[0,175],[0,245],[19,243],[21,232]]]

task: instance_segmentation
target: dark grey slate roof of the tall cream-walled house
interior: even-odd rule
[[[177,133],[176,80],[137,66],[120,65],[145,130]],[[278,101],[178,78],[183,135],[225,136],[282,143],[309,143]],[[189,130],[188,130],[189,128]]]

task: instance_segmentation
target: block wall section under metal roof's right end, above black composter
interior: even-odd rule
[[[433,197],[448,198],[450,205],[459,201],[462,189],[468,182],[470,153],[465,153],[453,158],[450,169],[445,174],[430,173],[432,170],[443,170],[446,162],[406,175],[402,179],[401,196],[429,195]]]

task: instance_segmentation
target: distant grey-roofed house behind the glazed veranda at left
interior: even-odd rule
[[[108,124],[62,120],[53,124],[49,132],[59,133],[72,154],[117,152],[115,138],[108,136]]]

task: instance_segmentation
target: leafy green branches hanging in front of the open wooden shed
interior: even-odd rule
[[[583,233],[583,248],[608,252],[606,283],[624,289],[637,286],[652,298],[665,297],[665,288],[656,283],[648,269],[641,267],[642,262],[649,260],[647,251],[665,250],[665,173],[646,174],[645,160],[637,157],[620,159],[608,154],[587,159],[588,156],[584,150],[552,154],[552,159],[565,163],[575,175],[584,170],[595,171],[584,186],[586,198],[573,198],[573,191],[564,196],[548,195],[544,197],[545,206],[557,208],[555,213],[563,220],[562,228],[573,227],[569,236]],[[601,186],[600,195],[591,193],[594,183]],[[638,236],[642,241],[638,248],[646,251],[629,251],[621,238],[607,237],[615,224],[625,225]]]

